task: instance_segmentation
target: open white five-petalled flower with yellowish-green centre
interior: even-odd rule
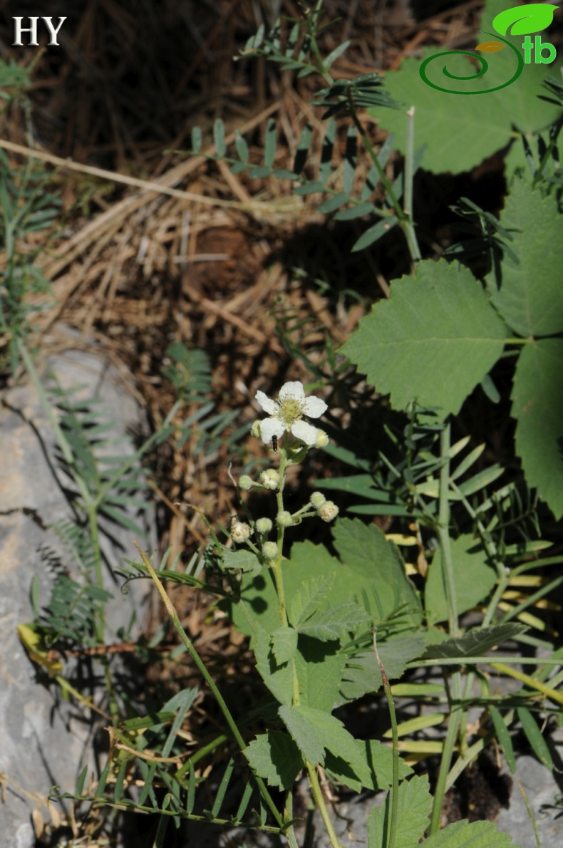
[[[301,421],[303,416],[319,418],[326,410],[321,398],[306,398],[303,383],[295,380],[287,382],[280,389],[278,400],[270,399],[264,392],[257,392],[256,399],[270,418],[260,421],[260,435],[264,444],[270,444],[272,438],[281,438],[291,432],[304,444],[313,445],[319,436],[319,430]]]

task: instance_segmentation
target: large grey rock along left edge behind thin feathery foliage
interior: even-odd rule
[[[115,436],[142,423],[137,402],[101,357],[69,350],[53,357],[49,366],[64,388],[80,385],[83,396],[102,399],[112,420],[119,421]],[[74,570],[68,551],[49,529],[72,515],[54,444],[31,383],[4,393],[0,405],[0,773],[6,801],[0,802],[0,842],[8,848],[35,845],[31,812],[38,810],[49,821],[47,795],[53,784],[73,791],[81,768],[85,764],[97,767],[91,711],[61,699],[58,684],[41,670],[37,673],[16,633],[19,624],[34,618],[29,597],[32,577],[38,577],[45,604],[53,585],[51,566],[64,567],[71,574]],[[148,544],[153,546],[153,516],[148,513],[145,520]],[[131,536],[131,530],[112,525],[111,538],[102,543],[109,562],[104,583],[114,595],[106,610],[109,642],[118,628],[127,627],[133,608],[138,624],[147,610],[148,583],[133,583],[124,597],[112,574],[124,556],[135,555]],[[63,674],[70,674],[68,667]],[[61,803],[59,812],[65,811],[68,805]]]

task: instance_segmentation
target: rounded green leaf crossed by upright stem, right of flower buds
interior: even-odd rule
[[[454,566],[455,598],[458,613],[471,610],[486,598],[496,583],[496,572],[488,565],[485,551],[472,536],[464,535],[451,543]],[[426,617],[432,624],[446,621],[448,601],[443,587],[443,564],[438,550],[428,570],[424,591]]]

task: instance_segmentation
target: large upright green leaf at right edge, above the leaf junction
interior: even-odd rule
[[[550,336],[563,330],[563,215],[555,198],[542,198],[524,180],[515,180],[500,221],[514,241],[518,264],[504,256],[502,281],[493,303],[504,321],[521,336]]]

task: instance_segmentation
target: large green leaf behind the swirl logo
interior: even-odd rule
[[[482,16],[481,31],[475,35],[475,46],[488,41],[488,36],[498,41],[492,21],[496,14],[506,8],[505,0],[488,0]],[[519,53],[522,53],[521,36],[503,36]],[[544,41],[549,40],[546,34]],[[422,61],[432,54],[444,53],[443,48],[431,48],[422,54]],[[483,53],[477,53],[480,58]],[[428,78],[438,86],[457,87],[462,91],[485,92],[510,80],[517,69],[516,55],[504,46],[498,53],[487,53],[488,70],[479,79],[454,81],[443,75],[443,67],[449,73],[461,76],[476,74],[476,68],[467,56],[443,56],[426,66]],[[406,127],[405,112],[415,106],[415,143],[418,147],[427,144],[423,166],[435,172],[451,171],[456,174],[471,170],[482,159],[491,156],[510,142],[516,129],[530,133],[542,130],[560,115],[561,109],[553,103],[540,99],[541,85],[546,75],[559,75],[559,65],[525,64],[521,76],[510,86],[499,91],[474,94],[437,91],[421,79],[421,60],[404,59],[399,70],[390,71],[385,77],[387,92],[395,100],[404,103],[404,109],[377,109],[376,117],[381,125],[395,133],[396,145],[404,151]],[[523,158],[523,157],[522,157]]]

